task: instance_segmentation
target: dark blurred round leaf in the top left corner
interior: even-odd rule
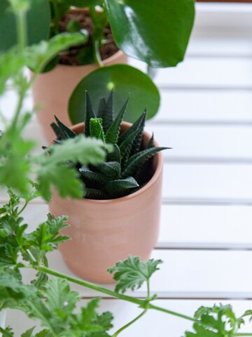
[[[50,6],[48,0],[32,0],[27,12],[28,45],[48,39],[50,27]],[[15,15],[10,11],[8,0],[0,0],[0,52],[17,44]]]

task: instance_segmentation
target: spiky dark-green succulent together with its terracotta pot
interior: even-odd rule
[[[134,124],[123,121],[125,103],[113,117],[113,93],[99,102],[94,114],[86,93],[85,124],[67,128],[52,124],[56,147],[68,138],[87,137],[113,144],[104,163],[77,166],[85,183],[85,199],[66,200],[54,193],[49,204],[54,216],[66,213],[71,240],[62,245],[66,264],[80,277],[109,283],[106,272],[116,258],[129,254],[147,260],[158,239],[162,187],[162,155],[153,136],[144,132],[146,112]],[[85,125],[85,126],[84,126]],[[83,194],[84,196],[84,194]]]

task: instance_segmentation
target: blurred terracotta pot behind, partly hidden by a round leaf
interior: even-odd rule
[[[107,66],[118,63],[127,63],[127,56],[122,51],[104,60]],[[67,126],[71,125],[67,112],[69,97],[78,82],[96,69],[97,65],[57,65],[52,71],[39,74],[32,91],[34,105],[41,106],[37,118],[47,140],[54,137],[50,128],[53,114]]]

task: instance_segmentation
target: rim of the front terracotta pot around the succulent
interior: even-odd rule
[[[132,124],[127,122],[127,121],[123,121],[122,125],[130,127]],[[73,131],[75,131],[76,129],[78,129],[82,126],[84,126],[83,122],[71,126],[71,129]],[[148,139],[151,139],[151,135],[146,131],[144,131],[144,136],[147,137]],[[158,143],[155,140],[154,140],[154,144],[155,144],[155,147],[158,147]],[[158,178],[162,174],[162,166],[163,166],[162,152],[160,151],[160,152],[156,153],[155,156],[157,158],[157,166],[156,166],[155,172],[154,172],[153,176],[151,177],[151,179],[148,181],[148,183],[146,183],[146,185],[144,185],[144,187],[142,187],[140,190],[137,190],[136,192],[134,192],[132,194],[125,195],[125,197],[120,197],[120,198],[116,198],[116,199],[99,200],[99,199],[87,199],[87,198],[84,197],[83,199],[75,199],[75,201],[80,201],[80,202],[84,201],[84,202],[90,203],[90,204],[111,204],[111,202],[113,202],[113,204],[117,204],[117,203],[119,204],[120,202],[139,197],[139,195],[143,194],[146,190],[151,188],[151,186],[153,186],[155,184],[156,180],[158,180]]]

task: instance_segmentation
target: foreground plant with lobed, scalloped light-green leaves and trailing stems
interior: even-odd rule
[[[90,163],[97,165],[104,161],[105,150],[113,149],[102,140],[87,139],[79,135],[64,140],[60,146],[48,148],[50,156],[48,152],[40,154],[31,152],[34,141],[22,137],[25,126],[34,114],[31,111],[24,112],[23,101],[31,81],[27,81],[23,67],[28,59],[29,62],[32,61],[33,66],[38,67],[38,70],[41,69],[55,56],[55,53],[71,46],[76,36],[73,38],[67,35],[64,39],[52,39],[27,48],[24,14],[31,2],[10,0],[10,4],[20,26],[20,34],[18,48],[0,55],[0,94],[7,90],[6,82],[8,81],[9,85],[11,81],[18,92],[18,103],[12,121],[5,124],[6,121],[2,119],[5,128],[4,132],[0,133],[0,188],[1,190],[4,187],[8,188],[9,194],[7,204],[0,208],[0,315],[6,308],[20,310],[36,320],[38,329],[43,329],[34,332],[34,327],[31,327],[22,333],[22,337],[111,336],[113,318],[111,313],[97,312],[99,298],[92,298],[86,306],[78,310],[77,305],[81,296],[76,291],[70,290],[69,282],[71,282],[93,289],[99,294],[104,293],[106,296],[129,301],[142,308],[141,314],[125,326],[119,327],[113,333],[113,337],[127,329],[127,326],[134,324],[148,310],[158,310],[192,322],[192,332],[186,331],[184,335],[186,337],[252,336],[252,333],[240,333],[244,319],[251,317],[251,310],[237,317],[230,305],[214,305],[212,308],[200,307],[195,315],[190,317],[155,305],[153,300],[157,296],[151,294],[150,279],[158,270],[161,260],[151,259],[141,262],[138,257],[130,256],[127,260],[116,263],[109,270],[117,282],[115,291],[50,269],[48,252],[57,249],[59,244],[68,239],[59,234],[66,226],[67,219],[64,216],[55,218],[49,214],[48,219],[31,232],[22,218],[22,212],[38,194],[45,200],[50,199],[51,185],[62,197],[67,195],[80,197],[83,194],[83,185],[76,175],[76,170],[72,170],[66,161],[71,160],[76,164],[83,162],[86,166]],[[84,145],[86,146],[83,147]],[[57,175],[53,174],[56,171]],[[36,178],[36,184],[31,183],[31,173],[33,178]],[[36,273],[33,282],[27,283],[22,279],[23,269]],[[49,279],[49,275],[54,278]],[[134,290],[144,282],[148,289],[146,298],[140,299],[124,294],[125,291]],[[3,337],[14,336],[11,327],[3,328],[0,325],[0,333]]]

